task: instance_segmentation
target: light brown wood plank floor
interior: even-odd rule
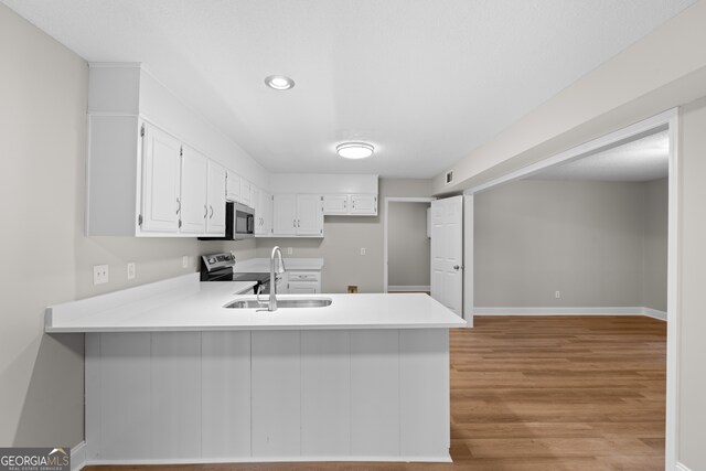
[[[451,333],[453,463],[88,470],[664,469],[666,324],[644,317],[478,317]]]

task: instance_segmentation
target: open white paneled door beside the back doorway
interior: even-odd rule
[[[431,297],[463,315],[463,196],[431,202]]]

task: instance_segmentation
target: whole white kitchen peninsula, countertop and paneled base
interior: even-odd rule
[[[86,333],[87,463],[450,461],[466,321],[418,293],[225,307],[250,287],[192,274],[47,308],[46,332]]]

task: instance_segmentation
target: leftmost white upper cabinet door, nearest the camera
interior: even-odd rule
[[[181,144],[148,124],[142,142],[142,231],[176,233],[181,211]]]

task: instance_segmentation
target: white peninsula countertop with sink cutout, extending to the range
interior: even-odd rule
[[[46,332],[449,329],[466,321],[427,295],[281,295],[329,298],[325,308],[227,309],[248,282],[199,282],[199,274],[46,308]],[[267,298],[265,296],[265,298]]]

